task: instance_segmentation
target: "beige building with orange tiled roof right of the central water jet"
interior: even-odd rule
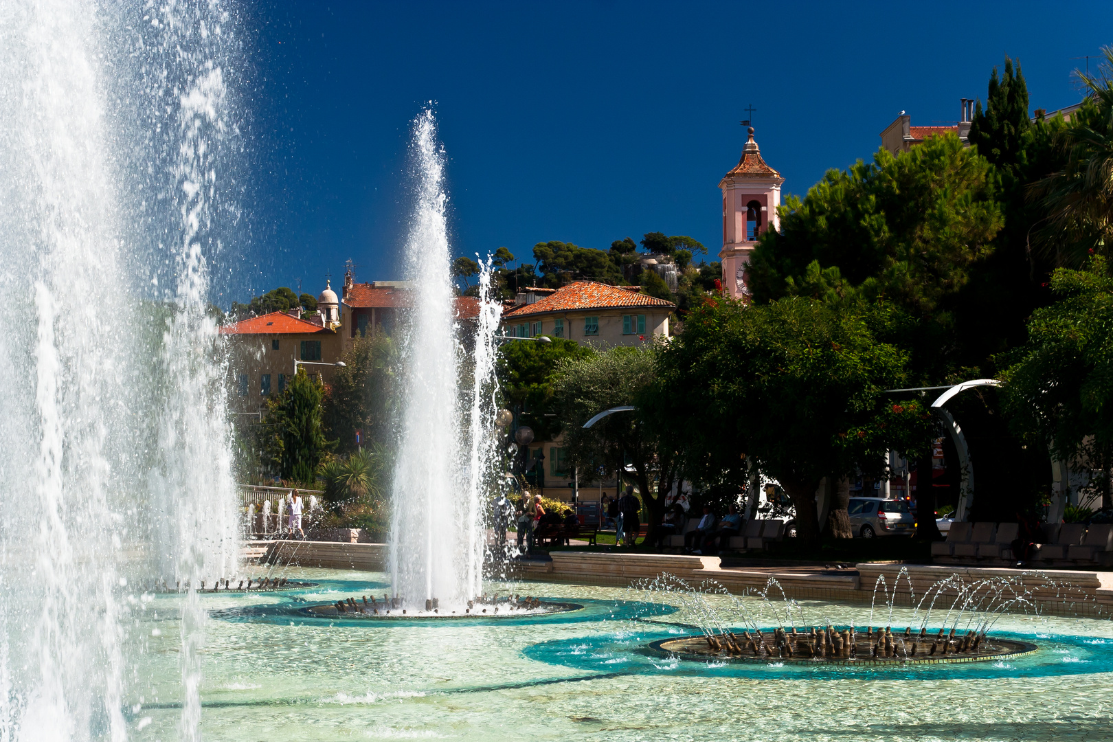
[[[526,288],[503,311],[512,337],[563,337],[598,348],[640,345],[669,336],[677,305],[640,294],[637,286],[578,280],[563,288]]]

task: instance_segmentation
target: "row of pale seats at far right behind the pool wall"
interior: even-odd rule
[[[1045,523],[1042,543],[1032,548],[1030,561],[1058,565],[1113,565],[1113,524]],[[932,544],[937,562],[1012,563],[1017,560],[1013,542],[1017,523],[953,523],[947,540]]]

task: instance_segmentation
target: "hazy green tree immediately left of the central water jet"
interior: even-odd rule
[[[356,338],[343,360],[345,366],[333,374],[323,419],[337,451],[349,453],[356,449],[356,431],[363,431],[365,445],[391,437],[397,412],[397,345],[386,333],[375,333]]]

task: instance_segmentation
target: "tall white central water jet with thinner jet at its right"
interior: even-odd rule
[[[391,577],[395,596],[410,606],[435,598],[442,607],[460,609],[482,592],[481,503],[491,415],[484,421],[480,410],[489,407],[485,379],[494,367],[498,314],[484,303],[484,329],[473,356],[479,367],[464,366],[450,274],[444,151],[432,111],[414,120],[411,157],[415,209],[405,259],[414,306],[402,345],[407,386],[394,475]],[[472,376],[471,388],[461,384],[462,370]],[[470,421],[462,399],[470,400]]]

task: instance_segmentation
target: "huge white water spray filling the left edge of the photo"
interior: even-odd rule
[[[0,6],[0,288],[18,301],[0,336],[2,740],[126,739],[146,692],[137,584],[235,561],[205,317],[226,18]],[[204,614],[183,616],[195,739]]]

